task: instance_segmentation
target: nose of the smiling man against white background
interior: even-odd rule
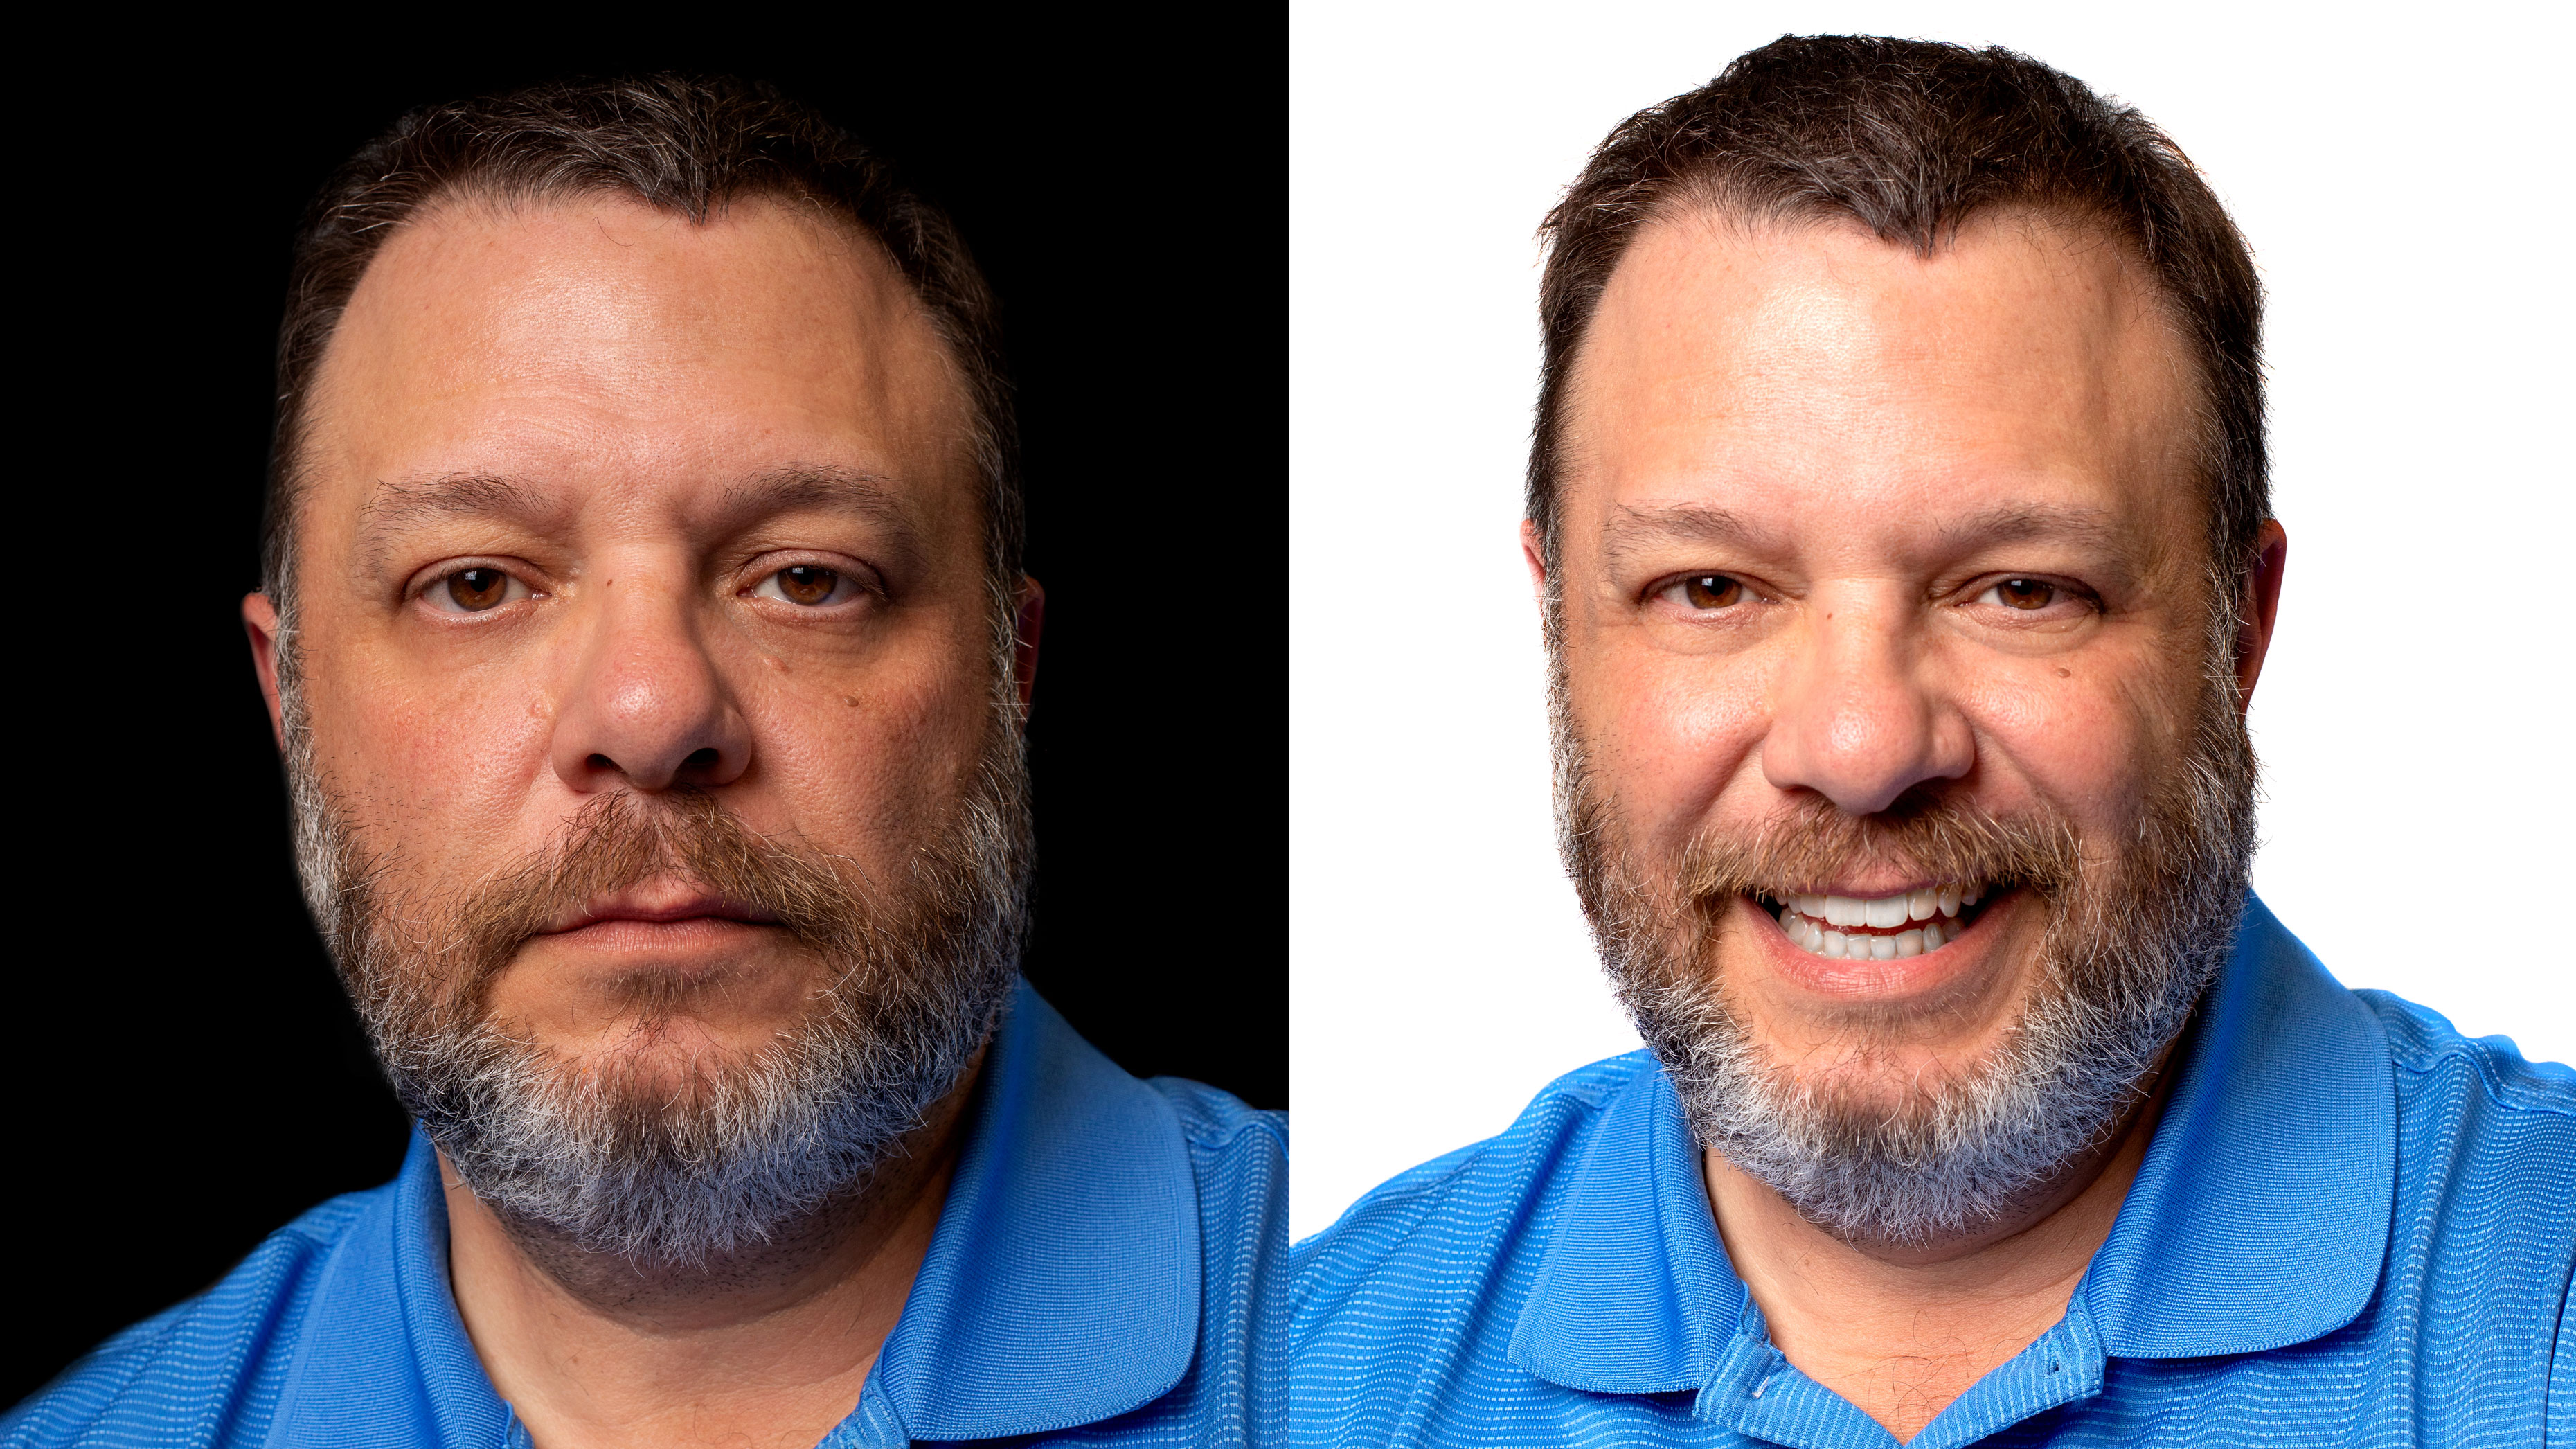
[[[1844,603],[1814,616],[1772,683],[1762,740],[1772,786],[1811,789],[1844,815],[1878,815],[1973,763],[1976,735],[1937,688],[1901,608]]]

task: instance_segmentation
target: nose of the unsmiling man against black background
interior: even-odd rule
[[[721,786],[752,763],[750,724],[680,598],[603,601],[559,699],[554,773],[574,794]]]

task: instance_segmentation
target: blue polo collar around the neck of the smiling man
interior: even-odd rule
[[[2074,1392],[2105,1354],[2303,1343],[2378,1287],[2396,1194],[2385,1036],[2251,895],[2179,1060],[2138,1181],[2053,1330],[2087,1361]],[[1785,1382],[1765,1338],[1680,1096],[1638,1073],[1579,1147],[1510,1361],[1584,1392],[1705,1397],[1744,1379],[1749,1397]]]

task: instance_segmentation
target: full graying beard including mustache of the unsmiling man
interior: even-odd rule
[[[381,890],[386,861],[361,848],[317,768],[289,627],[278,660],[304,900],[394,1093],[505,1222],[647,1274],[721,1263],[860,1194],[992,1036],[1018,982],[1033,859],[1007,665],[969,794],[909,882],[871,892],[703,794],[618,792],[461,910]],[[484,987],[536,920],[667,869],[770,910],[824,959],[829,987],[806,1018],[757,1052],[698,1052],[672,1085],[667,1065],[616,1049],[567,1060],[487,1016]],[[680,993],[641,980],[634,995],[649,1044]]]

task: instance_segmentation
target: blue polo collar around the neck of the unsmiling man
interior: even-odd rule
[[[863,1439],[1043,1434],[1170,1392],[1200,1315],[1180,1116],[1023,982],[969,1124],[922,1271],[853,1413],[896,1423]],[[456,1315],[425,1134],[412,1132],[402,1176],[319,1271],[270,1449],[371,1444],[389,1423],[456,1449],[528,1441]]]

